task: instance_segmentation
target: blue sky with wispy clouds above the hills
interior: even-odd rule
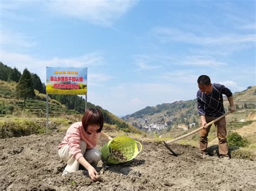
[[[115,115],[196,98],[197,78],[255,86],[255,1],[1,0],[0,60],[46,81],[87,67],[87,100]]]

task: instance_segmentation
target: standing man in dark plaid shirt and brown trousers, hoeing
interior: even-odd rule
[[[204,126],[204,129],[199,131],[199,151],[201,154],[207,154],[207,136],[211,125],[207,123],[225,114],[223,105],[223,94],[227,96],[230,102],[230,110],[234,112],[233,96],[230,89],[218,83],[211,83],[210,77],[201,75],[197,80],[197,108],[200,116],[199,126]],[[214,123],[217,128],[217,136],[219,139],[219,154],[220,158],[229,159],[227,146],[227,130],[225,117]]]

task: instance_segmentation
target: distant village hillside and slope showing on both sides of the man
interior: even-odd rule
[[[236,121],[245,118],[245,115],[250,114],[250,111],[254,112],[256,86],[250,86],[244,91],[234,93],[233,97],[235,107],[239,111],[228,115],[228,119]],[[225,110],[229,109],[228,106],[229,103],[226,96],[224,96]],[[188,125],[198,126],[197,100],[176,101],[159,104],[156,107],[146,107],[122,118],[139,129],[150,129],[150,131],[169,131],[171,128],[182,129]]]

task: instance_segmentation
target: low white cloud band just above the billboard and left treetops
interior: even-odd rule
[[[10,66],[17,67],[21,72],[24,68],[28,68],[30,72],[38,74],[42,82],[46,82],[46,67],[88,67],[100,65],[103,58],[96,53],[82,55],[76,58],[52,58],[42,60],[34,58],[28,54],[14,52],[0,52],[0,60]],[[45,69],[42,69],[45,68]]]

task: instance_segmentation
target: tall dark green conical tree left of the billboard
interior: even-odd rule
[[[16,96],[18,98],[24,98],[24,106],[26,106],[27,98],[35,98],[36,94],[33,89],[33,83],[31,80],[31,74],[28,69],[24,69],[21,78],[16,86]]]

